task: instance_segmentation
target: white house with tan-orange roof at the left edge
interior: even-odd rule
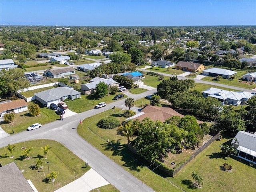
[[[0,103],[0,117],[6,113],[20,113],[28,110],[28,104],[24,99],[8,100]]]

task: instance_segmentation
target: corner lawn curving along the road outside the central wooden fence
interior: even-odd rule
[[[126,137],[117,135],[116,128],[105,130],[96,126],[98,120],[106,116],[114,116],[120,122],[125,119],[120,109],[116,108],[115,114],[113,114],[112,110],[108,110],[96,116],[86,118],[82,123],[82,128],[77,128],[78,134],[136,178],[150,186],[154,191],[181,192],[179,188],[162,178],[157,169],[150,170],[154,169],[154,167],[150,166],[150,168],[147,168],[149,166],[147,162],[131,153],[127,147]],[[108,139],[110,139],[112,144],[106,142]]]

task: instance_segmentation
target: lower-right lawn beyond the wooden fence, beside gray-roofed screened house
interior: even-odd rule
[[[230,143],[231,138],[223,138],[221,141],[214,141],[208,148],[196,156],[183,168],[174,178],[167,178],[186,192],[195,191],[190,187],[193,182],[191,173],[198,171],[204,178],[204,186],[198,191],[205,192],[236,192],[236,191],[255,191],[255,178],[250,179],[256,174],[256,166],[249,166],[249,163],[236,158],[222,158],[220,154],[220,145]],[[225,172],[220,169],[223,163],[230,164],[232,172]]]

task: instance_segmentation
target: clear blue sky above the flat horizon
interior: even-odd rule
[[[0,0],[0,25],[256,25],[256,0]]]

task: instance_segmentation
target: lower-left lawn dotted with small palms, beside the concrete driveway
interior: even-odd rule
[[[15,162],[20,170],[24,170],[23,175],[26,180],[31,180],[38,191],[52,192],[65,186],[66,184],[78,179],[85,172],[90,169],[84,167],[85,162],[78,158],[74,153],[64,147],[62,144],[52,140],[31,140],[22,143],[14,144],[16,149],[13,152],[14,158],[9,157],[7,147],[1,148],[1,164],[2,166]],[[41,147],[49,145],[52,147],[48,152],[48,158],[45,158]],[[33,148],[33,154],[27,159],[22,154],[24,151],[21,149],[23,146],[26,148]],[[6,154],[6,155],[5,155]],[[34,169],[35,161],[37,158],[41,158],[43,168],[36,170]],[[46,162],[49,162],[50,172],[58,172],[58,176],[55,182],[46,182],[45,178],[49,174],[48,166]]]

